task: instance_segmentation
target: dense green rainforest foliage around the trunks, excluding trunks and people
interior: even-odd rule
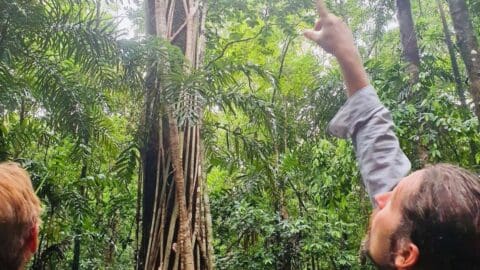
[[[179,67],[163,74],[168,95],[189,89],[205,107],[216,267],[361,268],[371,204],[352,145],[326,133],[345,96],[336,62],[301,35],[315,21],[312,1],[208,1],[205,64],[192,74],[175,48],[145,38],[140,7],[126,40],[111,12],[120,3],[110,2],[0,0],[0,160],[29,170],[44,205],[30,267],[135,266],[144,77],[169,62]],[[480,171],[469,81],[455,48],[463,107],[435,1],[412,1],[421,56],[413,85],[394,1],[327,3],[352,27],[414,167],[425,162],[420,145],[427,163]],[[467,3],[478,37],[480,4]]]

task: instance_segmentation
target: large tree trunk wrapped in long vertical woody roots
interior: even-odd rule
[[[146,1],[147,33],[182,50],[189,66],[186,73],[203,61],[205,12],[201,0]],[[146,78],[143,219],[137,269],[213,269],[201,123],[186,121],[179,126],[174,115],[176,109],[187,106],[201,115],[202,108],[197,97],[190,95],[180,95],[182,106],[165,104],[161,98],[165,78],[157,74],[157,68]],[[168,64],[161,68],[168,69]]]

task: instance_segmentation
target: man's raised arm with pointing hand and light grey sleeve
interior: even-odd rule
[[[333,54],[342,69],[348,100],[328,125],[339,138],[351,138],[363,183],[373,204],[378,194],[392,190],[410,171],[400,149],[390,112],[370,85],[348,26],[317,0],[320,19],[305,37]]]

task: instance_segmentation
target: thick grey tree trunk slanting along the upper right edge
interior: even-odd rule
[[[458,47],[467,68],[475,114],[480,119],[480,50],[464,0],[448,0]]]

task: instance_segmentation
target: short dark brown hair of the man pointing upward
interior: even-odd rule
[[[401,227],[420,251],[414,269],[479,269],[479,177],[449,164],[427,167]]]

